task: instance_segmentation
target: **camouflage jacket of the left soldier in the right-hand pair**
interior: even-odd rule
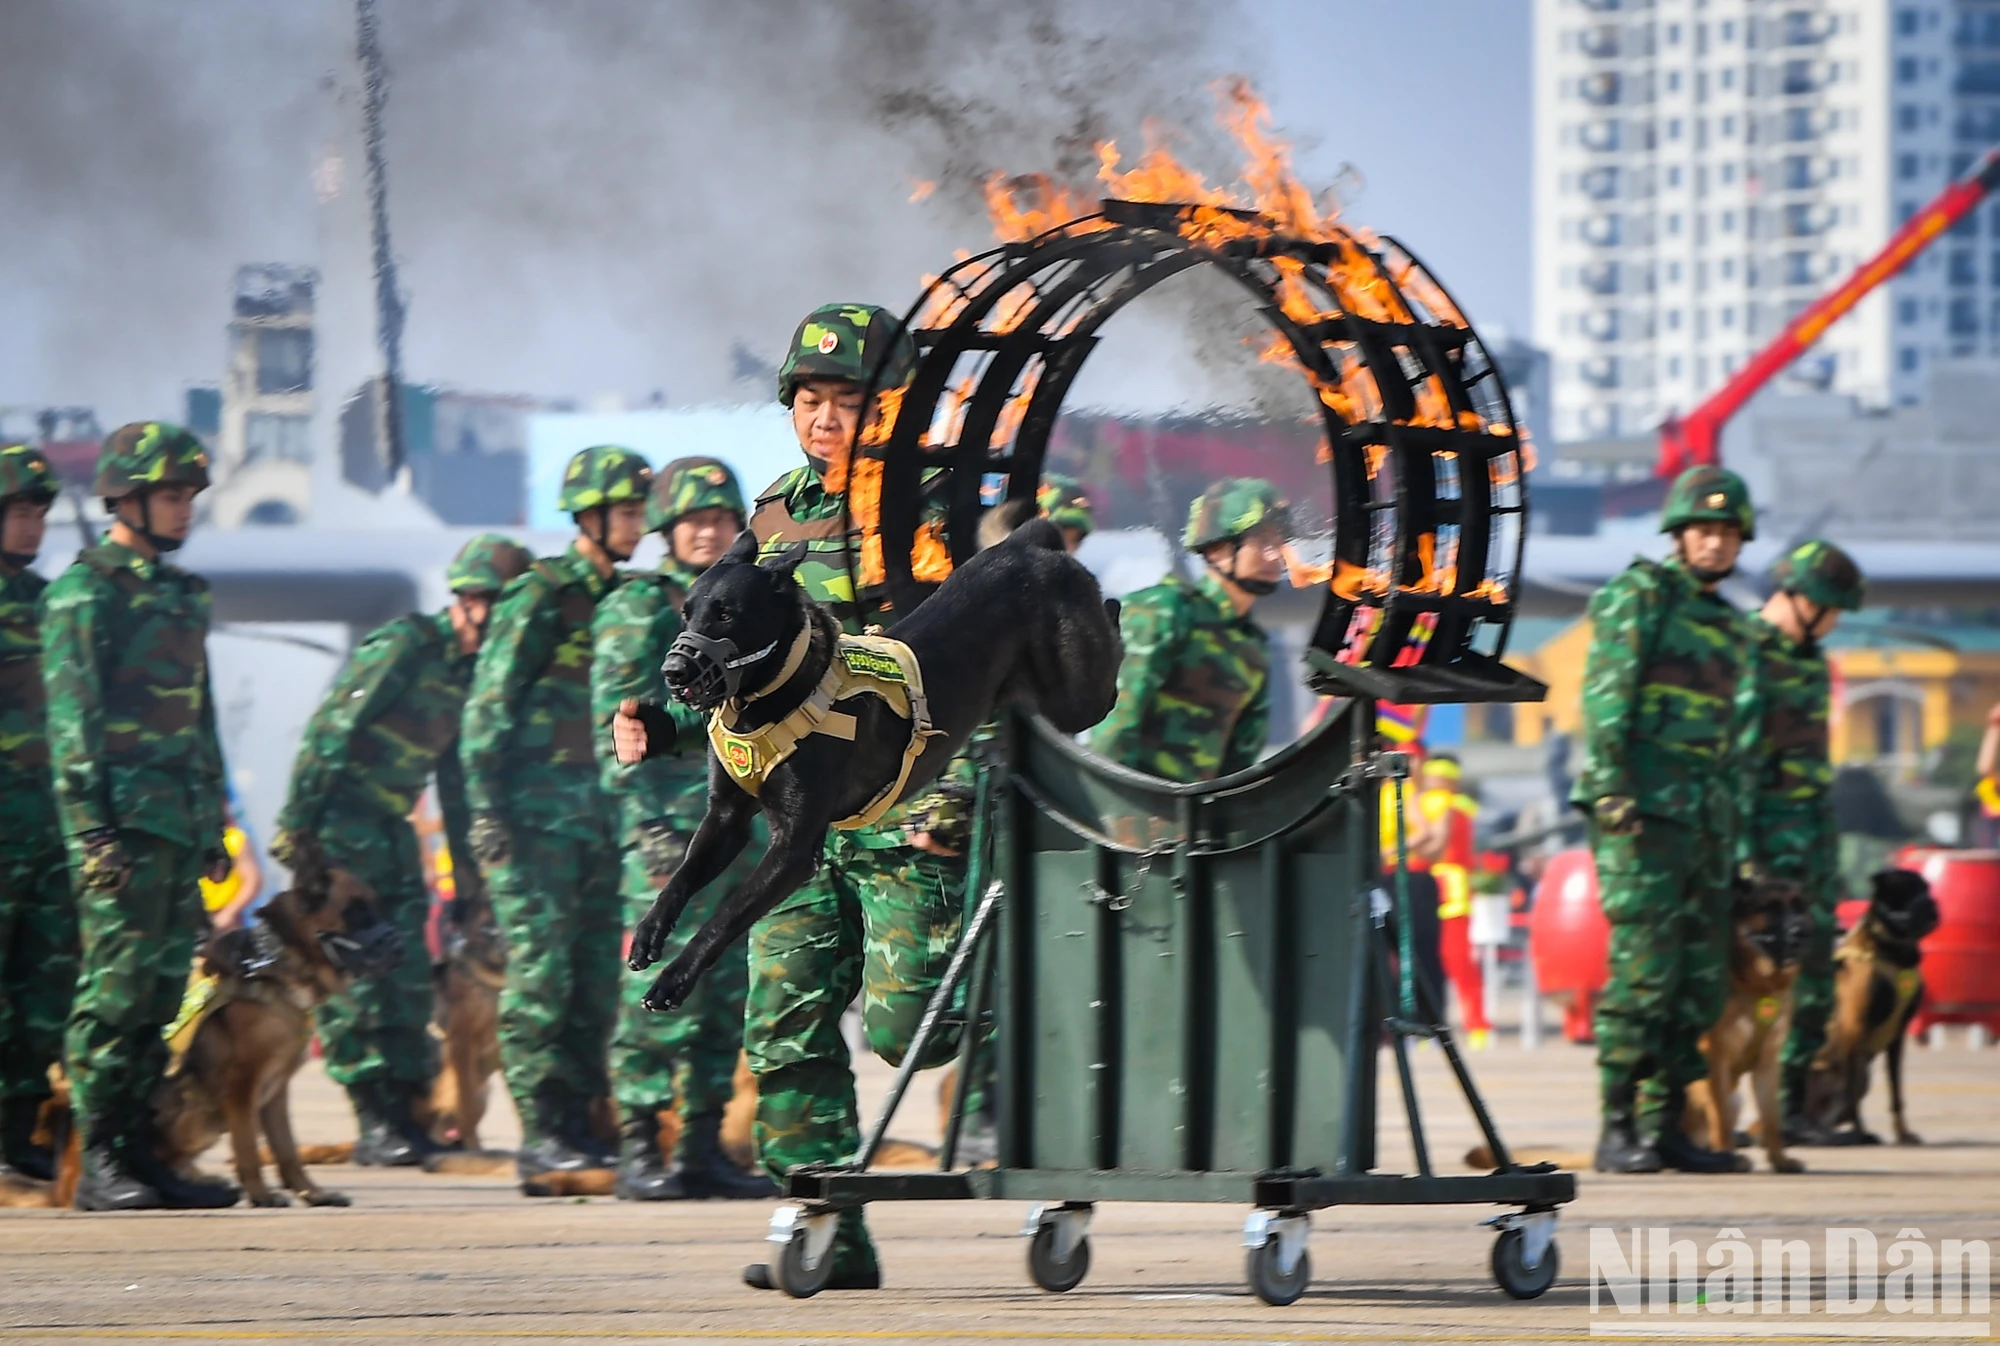
[[[1634,560],[1590,598],[1584,768],[1570,800],[1732,826],[1748,708],[1750,628],[1678,560]]]

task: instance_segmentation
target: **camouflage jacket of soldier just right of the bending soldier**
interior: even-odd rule
[[[608,810],[590,718],[590,622],[618,580],[572,548],[534,562],[500,594],[458,738],[474,812],[602,836]]]

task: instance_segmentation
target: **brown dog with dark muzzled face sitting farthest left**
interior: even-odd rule
[[[376,914],[374,890],[340,868],[302,872],[250,928],[212,940],[202,968],[216,980],[198,1008],[182,1012],[178,1060],[154,1094],[160,1162],[190,1176],[196,1156],[228,1134],[250,1204],[288,1206],[264,1182],[262,1130],[286,1188],[308,1206],[346,1206],[306,1174],[290,1084],[306,1064],[312,1010],[400,958],[402,936]]]

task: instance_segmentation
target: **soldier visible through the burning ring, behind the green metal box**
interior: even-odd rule
[[[1256,762],[1270,734],[1270,636],[1250,608],[1278,588],[1286,526],[1286,502],[1254,476],[1194,498],[1182,546],[1206,570],[1126,596],[1118,704],[1092,730],[1092,752],[1178,782]]]

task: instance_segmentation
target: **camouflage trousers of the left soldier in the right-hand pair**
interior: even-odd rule
[[[1638,836],[1590,830],[1610,934],[1610,980],[1596,1010],[1606,1112],[1634,1108],[1640,1128],[1708,1074],[1700,1040],[1728,1000],[1730,848],[1726,838],[1660,818]]]

